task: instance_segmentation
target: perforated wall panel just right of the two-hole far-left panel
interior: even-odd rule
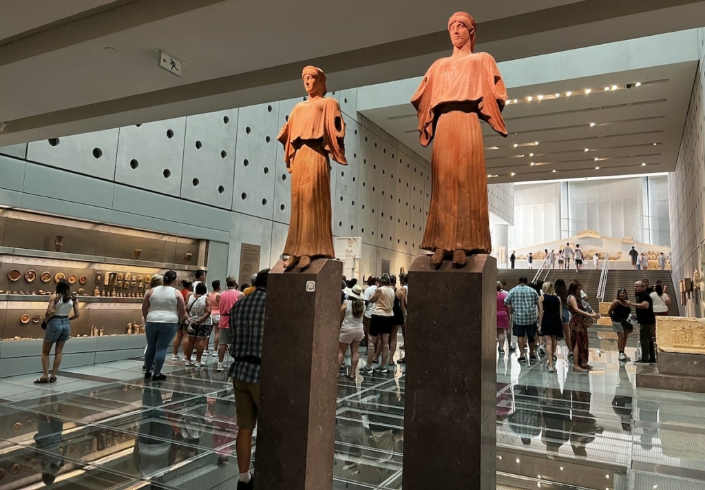
[[[179,196],[185,130],[185,117],[121,128],[115,180]]]

